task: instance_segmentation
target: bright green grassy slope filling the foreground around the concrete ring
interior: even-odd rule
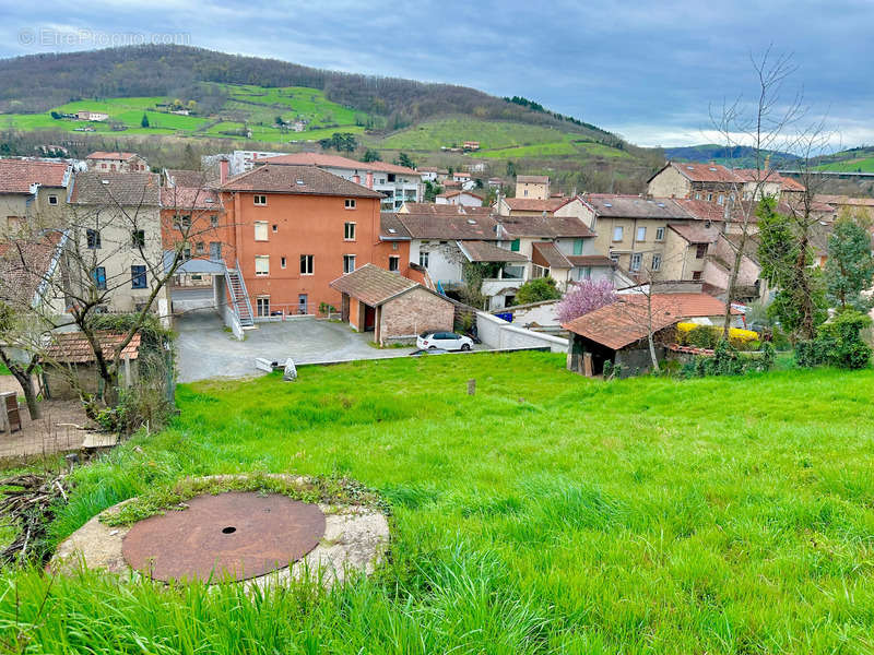
[[[874,650],[873,370],[599,382],[563,365],[562,355],[472,355],[304,368],[294,384],[274,374],[180,385],[168,429],[78,471],[54,539],[182,476],[336,474],[390,503],[389,561],[331,593],[302,585],[256,598],[7,571],[0,643],[154,654]]]

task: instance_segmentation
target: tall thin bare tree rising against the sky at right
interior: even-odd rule
[[[784,82],[796,70],[790,55],[773,56],[769,47],[758,59],[751,56],[751,62],[757,83],[755,102],[746,103],[739,97],[731,103],[723,102],[719,108],[710,107],[711,123],[722,136],[727,152],[731,154],[735,146],[748,145],[755,156],[752,180],[746,183],[741,180],[733,182],[732,193],[725,201],[725,229],[730,223],[737,224],[740,239],[734,260],[730,262],[722,325],[724,338],[729,335],[737,276],[755,222],[755,203],[765,195],[768,182],[779,177],[766,165],[768,153],[795,150],[798,136],[791,133],[791,128],[805,112],[800,92],[789,102],[781,97]]]

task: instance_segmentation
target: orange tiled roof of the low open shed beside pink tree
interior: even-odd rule
[[[657,332],[684,319],[716,317],[725,305],[707,294],[653,294],[652,330]],[[645,338],[649,333],[647,299],[642,294],[624,294],[613,305],[583,314],[562,326],[613,350]]]

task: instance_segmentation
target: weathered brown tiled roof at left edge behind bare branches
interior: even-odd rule
[[[29,307],[51,266],[63,235],[50,231],[38,240],[0,243],[0,298]]]

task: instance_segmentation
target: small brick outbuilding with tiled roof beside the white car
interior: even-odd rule
[[[415,343],[425,331],[451,331],[454,306],[440,294],[402,275],[365,264],[330,283],[341,294],[344,322],[374,333],[380,346]]]

